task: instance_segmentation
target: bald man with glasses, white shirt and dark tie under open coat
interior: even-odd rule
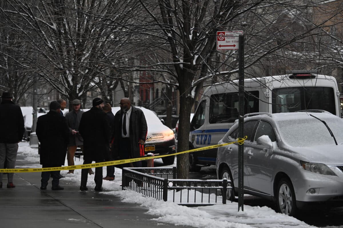
[[[141,109],[131,105],[130,99],[120,100],[120,110],[114,116],[114,140],[112,148],[120,159],[139,158],[144,156],[144,143],[147,124]],[[141,167],[142,162],[128,166]]]

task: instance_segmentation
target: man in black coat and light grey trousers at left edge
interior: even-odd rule
[[[24,135],[24,117],[19,106],[12,101],[12,94],[2,93],[0,104],[0,169],[3,169],[5,159],[7,169],[14,169],[17,158],[18,143]],[[0,188],[2,188],[2,175],[0,173]],[[13,173],[7,173],[7,188],[15,188]]]

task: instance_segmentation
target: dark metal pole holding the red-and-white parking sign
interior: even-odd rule
[[[238,137],[244,137],[244,35],[239,35],[239,50],[238,50],[238,59],[239,59],[239,90],[238,90],[238,108],[239,108],[239,117],[238,117]],[[244,211],[244,144],[238,145],[238,211],[239,208]]]

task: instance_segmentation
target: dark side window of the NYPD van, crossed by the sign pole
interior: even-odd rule
[[[259,111],[259,92],[245,92],[244,113]],[[238,93],[213,94],[210,97],[209,123],[233,123],[238,119]]]

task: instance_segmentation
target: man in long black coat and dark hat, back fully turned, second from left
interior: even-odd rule
[[[69,128],[64,116],[60,115],[61,105],[57,101],[50,103],[50,111],[38,117],[36,135],[40,142],[40,164],[43,168],[60,167],[64,165],[67,145],[69,140]],[[52,190],[63,190],[59,185],[60,170],[42,172],[40,189],[45,190],[48,181],[52,177]]]

